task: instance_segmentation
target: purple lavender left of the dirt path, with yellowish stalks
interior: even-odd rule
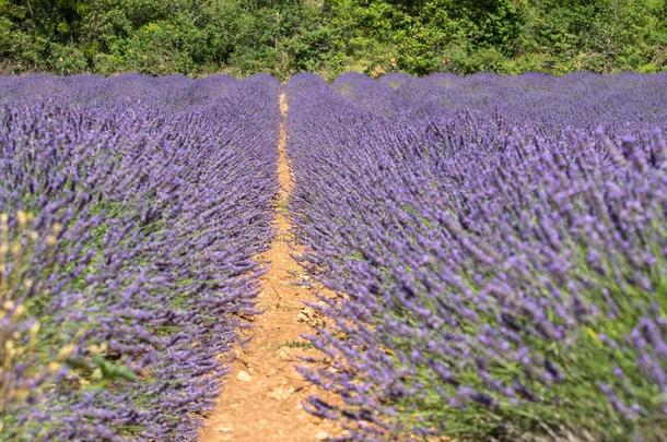
[[[196,439],[255,313],[278,88],[0,79],[0,439]]]

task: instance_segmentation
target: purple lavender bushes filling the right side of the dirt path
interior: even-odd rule
[[[344,405],[313,413],[354,440],[666,435],[667,76],[288,93],[303,260],[341,294],[304,373]]]

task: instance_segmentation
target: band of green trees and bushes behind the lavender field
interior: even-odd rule
[[[0,69],[655,72],[667,1],[0,0]]]

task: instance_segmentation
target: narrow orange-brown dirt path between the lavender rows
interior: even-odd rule
[[[224,381],[219,403],[201,431],[200,442],[317,441],[336,432],[331,422],[302,408],[301,403],[307,396],[315,393],[321,396],[321,392],[294,369],[299,356],[321,357],[321,354],[308,349],[307,342],[300,337],[312,333],[308,323],[314,320],[314,312],[303,302],[316,299],[313,289],[295,285],[303,270],[290,255],[301,250],[293,243],[286,213],[293,182],[285,152],[288,103],[284,94],[280,96],[280,110],[281,190],[274,218],[277,231],[270,249],[260,256],[269,265],[257,300],[264,313],[255,319],[250,343],[236,350],[236,360]]]

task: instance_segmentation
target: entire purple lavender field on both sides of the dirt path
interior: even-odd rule
[[[666,140],[666,74],[0,77],[0,440],[197,440],[276,211],[337,440],[667,440]]]

